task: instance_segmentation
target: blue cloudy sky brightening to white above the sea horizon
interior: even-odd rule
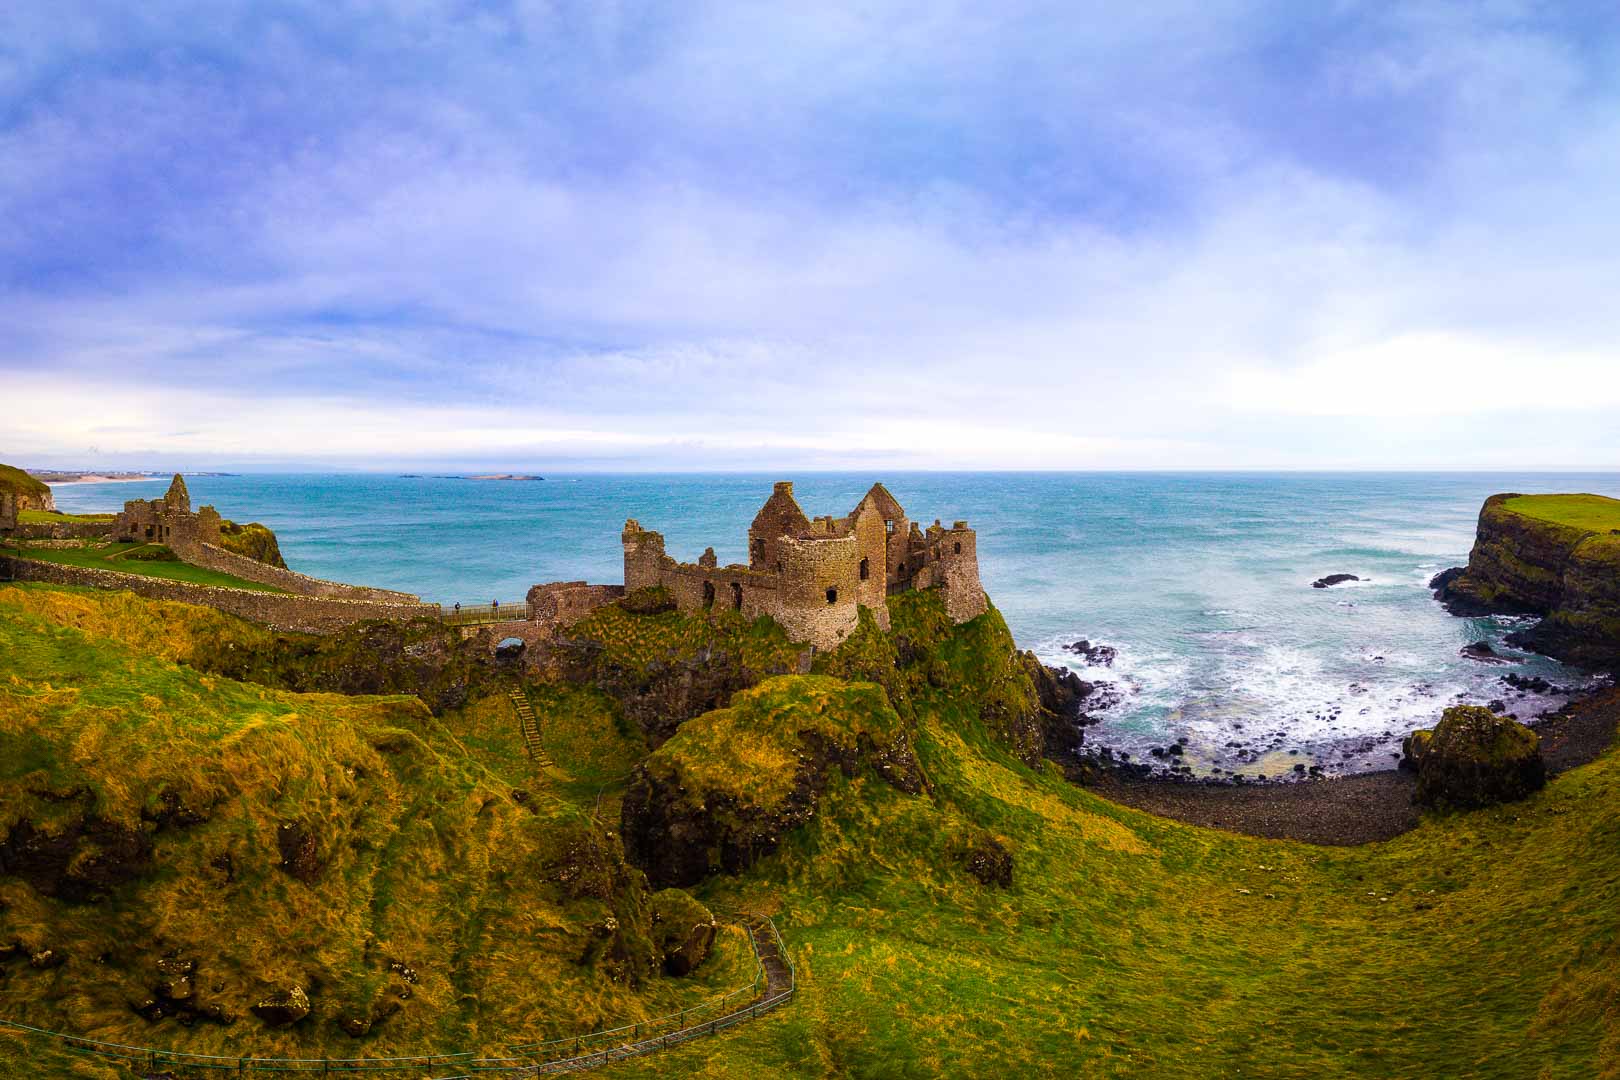
[[[1620,468],[1612,3],[0,8],[0,460]]]

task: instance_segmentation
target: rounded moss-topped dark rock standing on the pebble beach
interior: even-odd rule
[[[1418,772],[1418,798],[1430,806],[1490,806],[1547,782],[1536,732],[1479,706],[1447,709],[1432,732],[1413,732],[1403,750]]]

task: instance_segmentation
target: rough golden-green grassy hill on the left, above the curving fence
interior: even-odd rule
[[[659,973],[645,878],[525,767],[515,722],[514,745],[480,748],[416,698],[177,662],[254,633],[185,604],[0,588],[0,1017],[227,1056],[501,1052],[753,978],[737,934],[692,976]],[[36,970],[47,949],[66,962]],[[249,1015],[293,984],[309,1020]],[[138,1015],[152,1004],[170,1018]]]

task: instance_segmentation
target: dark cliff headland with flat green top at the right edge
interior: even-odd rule
[[[1468,567],[1434,586],[1453,615],[1544,615],[1515,644],[1620,669],[1620,500],[1492,495]]]

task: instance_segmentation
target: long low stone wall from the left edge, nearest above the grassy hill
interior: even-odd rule
[[[361,599],[295,596],[290,593],[256,593],[217,585],[193,585],[167,578],[147,578],[115,570],[63,567],[32,559],[0,555],[0,580],[49,581],[52,585],[84,585],[97,589],[128,589],[159,601],[181,601],[215,607],[230,615],[262,622],[275,630],[301,633],[335,633],[366,619],[437,617],[437,604],[400,604]]]

